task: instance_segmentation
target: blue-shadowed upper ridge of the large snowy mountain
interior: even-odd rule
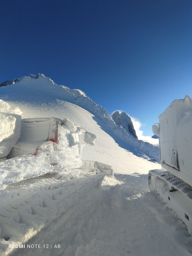
[[[62,85],[56,85],[50,78],[42,74],[16,78],[12,81],[6,81],[2,85],[0,99],[6,100],[8,97],[7,100],[10,105],[16,99],[14,106],[18,106],[21,109],[23,112],[22,118],[29,117],[29,110],[30,117],[39,117],[38,111],[35,110],[38,106],[57,107],[57,117],[63,118],[63,113],[60,113],[59,109],[62,109],[63,101],[67,101],[88,110],[91,114],[101,119],[108,127],[113,138],[116,136],[131,144],[138,155],[146,155],[146,157],[159,161],[159,149],[157,147],[133,138],[126,130],[115,124],[104,108],[92,101],[88,96],[84,96],[78,89],[69,89]]]

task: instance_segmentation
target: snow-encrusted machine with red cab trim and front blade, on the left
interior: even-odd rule
[[[34,172],[32,162],[35,160],[30,156],[35,156],[37,157],[35,167],[43,169],[44,173],[80,169],[96,174],[102,171],[108,176],[113,176],[113,170],[107,164],[81,160],[83,147],[86,144],[94,146],[96,136],[78,127],[74,122],[56,117],[28,119],[8,117],[6,125],[10,123],[9,126],[14,126],[14,129],[5,133],[5,138],[2,137],[0,141],[0,162],[13,160],[14,165],[23,161],[28,162],[29,167],[25,164],[22,169],[23,172],[32,174]],[[9,162],[4,163],[9,164]]]

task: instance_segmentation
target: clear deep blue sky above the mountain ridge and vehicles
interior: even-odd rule
[[[0,0],[0,83],[38,73],[152,136],[192,97],[192,0]]]

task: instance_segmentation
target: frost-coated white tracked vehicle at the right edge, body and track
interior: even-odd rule
[[[162,169],[149,171],[150,191],[162,197],[192,235],[192,99],[174,100],[152,126]]]

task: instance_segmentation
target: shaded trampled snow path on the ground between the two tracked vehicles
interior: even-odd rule
[[[122,183],[105,186],[105,181],[101,189],[87,190],[26,243],[41,248],[19,249],[14,256],[190,256],[191,237],[173,212],[147,192],[147,175],[115,177]]]

